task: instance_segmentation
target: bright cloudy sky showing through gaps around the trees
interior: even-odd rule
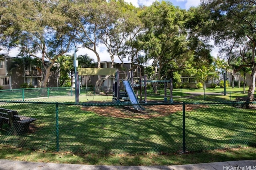
[[[150,6],[155,0],[124,0],[124,1],[128,2],[128,3],[132,3],[132,5],[139,7],[139,6]],[[192,6],[198,6],[200,4],[200,0],[168,0],[168,1],[172,2],[172,4],[174,6],[179,6],[181,9],[186,9],[186,10],[188,10]],[[7,53],[6,51],[0,51],[0,52]],[[99,52],[101,61],[111,61],[110,55],[108,54],[106,47],[103,44],[99,45],[98,52]],[[69,53],[69,54],[72,55],[73,53],[74,52],[71,51],[71,53]],[[17,50],[12,50],[12,51],[8,52],[8,55],[11,57],[15,57],[17,54],[18,54]],[[97,62],[96,55],[92,51],[90,51],[88,49],[82,49],[82,48],[79,48],[77,51],[77,56],[86,55],[86,54],[90,58],[94,59],[95,62]],[[216,57],[217,54],[218,54],[218,50],[213,49],[211,55]],[[114,61],[116,63],[121,63],[121,61],[118,59],[118,57],[115,57]],[[124,63],[128,63],[128,62],[130,62],[130,61],[128,61],[127,59],[124,59]],[[148,64],[149,65],[152,64],[152,61],[151,62],[149,61]]]

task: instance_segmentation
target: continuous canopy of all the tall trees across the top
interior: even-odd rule
[[[206,68],[214,61],[209,43],[214,39],[229,65],[241,59],[234,72],[252,70],[248,94],[253,94],[255,8],[254,0],[202,0],[189,10],[168,1],[136,8],[124,0],[2,0],[0,48],[18,48],[40,60],[45,87],[51,68],[75,43],[94,52],[98,67],[99,44],[105,45],[112,66],[116,57],[132,65],[151,60],[150,77],[161,79],[190,68],[209,72]],[[101,84],[99,76],[96,86]]]

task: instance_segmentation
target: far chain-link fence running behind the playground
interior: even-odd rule
[[[96,93],[95,87],[81,87],[79,94],[81,101],[111,101],[112,90],[106,90],[100,87],[99,92]],[[158,88],[157,94],[152,92],[152,89],[147,89],[147,96],[151,98],[164,98],[164,89]],[[225,95],[224,95],[225,94]],[[197,101],[234,101],[239,97],[246,97],[248,94],[243,92],[230,92],[224,93],[223,88],[216,88],[210,90],[191,90],[191,89],[173,89],[172,98],[175,101],[184,100],[197,100]],[[63,96],[67,101],[75,101],[75,88],[72,87],[59,87],[59,88],[31,88],[31,89],[13,89],[13,90],[0,90],[1,100],[44,100],[56,101],[58,97]],[[144,96],[144,90],[142,90]],[[167,98],[170,98],[170,89],[166,90]],[[254,94],[256,98],[256,94]]]

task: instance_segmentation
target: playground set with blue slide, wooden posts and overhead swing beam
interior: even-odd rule
[[[113,84],[113,95],[112,95],[112,103],[131,103],[134,104],[133,107],[136,110],[143,111],[145,108],[140,106],[140,103],[147,103],[147,82],[160,82],[164,83],[164,102],[167,102],[166,89],[167,83],[170,83],[170,102],[172,101],[172,79],[170,80],[146,80],[146,75],[144,75],[144,80],[142,80],[142,76],[140,75],[140,80],[137,81],[139,84],[134,83],[133,80],[133,72],[130,71],[127,74],[127,79],[120,80],[119,70],[116,68],[78,68],[79,75],[87,75],[87,76],[103,76],[103,75],[115,75],[115,82]],[[78,74],[77,74],[78,76]],[[78,79],[77,79],[78,80]],[[122,87],[124,89],[120,89],[120,82],[122,83]],[[78,84],[78,82],[75,82]],[[76,86],[76,91],[79,90],[79,86]],[[123,91],[121,91],[123,90]],[[136,90],[136,94],[135,91]],[[144,100],[142,100],[142,90],[144,90]],[[138,98],[138,91],[140,91],[140,101]],[[79,102],[76,96],[76,101]]]

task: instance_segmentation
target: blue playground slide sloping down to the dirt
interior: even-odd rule
[[[130,84],[129,80],[123,80],[123,82],[124,82],[125,90],[126,90],[126,92],[128,94],[128,97],[130,99],[130,102],[132,104],[139,104],[138,99],[137,99],[137,97],[136,97],[136,95],[135,95],[135,93],[134,93],[134,91],[132,89],[132,85]],[[134,105],[133,107],[136,110],[139,110],[139,111],[145,110],[145,108],[140,106],[140,105]]]

